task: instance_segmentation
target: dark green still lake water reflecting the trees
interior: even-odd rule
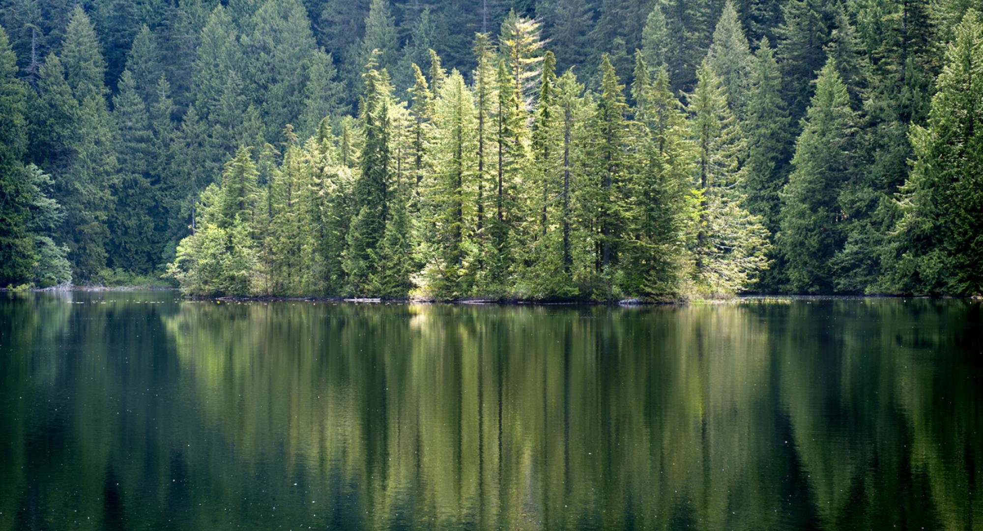
[[[978,302],[175,299],[0,294],[0,529],[983,529]]]

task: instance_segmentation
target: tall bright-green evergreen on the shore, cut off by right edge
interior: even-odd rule
[[[886,284],[901,293],[983,292],[983,17],[955,27],[926,127],[911,131],[915,162],[901,188]]]

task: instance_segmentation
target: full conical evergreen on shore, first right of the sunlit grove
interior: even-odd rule
[[[854,121],[846,86],[836,61],[830,59],[816,81],[816,94],[795,143],[792,173],[781,195],[778,242],[792,291],[817,293],[832,288],[830,260],[844,240],[838,193],[853,171],[847,147]]]

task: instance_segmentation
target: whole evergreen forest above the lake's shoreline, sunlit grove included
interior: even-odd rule
[[[983,293],[979,0],[0,0],[0,287]]]

